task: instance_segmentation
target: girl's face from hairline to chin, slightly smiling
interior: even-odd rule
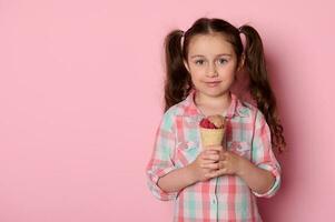
[[[184,63],[195,88],[207,97],[228,92],[239,69],[231,43],[220,33],[193,37]]]

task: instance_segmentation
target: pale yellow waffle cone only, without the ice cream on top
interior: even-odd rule
[[[225,129],[206,129],[200,128],[203,147],[221,145],[225,134]]]

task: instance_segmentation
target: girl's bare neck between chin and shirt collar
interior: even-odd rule
[[[230,92],[226,92],[219,97],[208,97],[200,92],[195,95],[195,103],[203,114],[206,117],[211,114],[225,114],[230,105]]]

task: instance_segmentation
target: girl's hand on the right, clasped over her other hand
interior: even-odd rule
[[[221,151],[219,153],[219,161],[215,163],[208,163],[205,165],[210,172],[206,174],[209,178],[217,178],[226,174],[239,175],[245,165],[246,159],[235,154],[230,151]]]

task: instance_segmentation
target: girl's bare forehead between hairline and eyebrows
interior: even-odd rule
[[[231,54],[233,44],[221,33],[197,34],[190,39],[188,54]]]

